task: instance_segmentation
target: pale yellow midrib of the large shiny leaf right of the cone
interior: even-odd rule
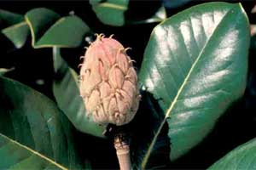
[[[226,15],[229,14],[230,11],[232,11],[232,9],[233,9],[233,8],[230,8],[229,11],[228,11],[226,14],[224,14],[223,18],[218,22],[218,25],[215,27],[214,31],[212,31],[212,34],[210,35],[210,37],[208,37],[207,42],[205,42],[203,48],[201,49],[200,54],[198,54],[198,57],[195,59],[193,65],[191,65],[191,68],[189,69],[189,72],[188,72],[187,76],[185,77],[185,79],[184,79],[182,85],[180,86],[180,88],[178,88],[177,94],[175,95],[175,98],[172,100],[171,106],[170,106],[170,107],[168,108],[168,110],[166,111],[166,116],[165,116],[164,120],[161,122],[160,127],[157,129],[157,132],[154,134],[154,139],[153,139],[152,142],[150,143],[150,145],[149,145],[149,147],[148,147],[148,150],[147,150],[147,152],[146,152],[146,155],[143,157],[142,169],[145,169],[146,164],[147,164],[147,162],[148,162],[148,158],[149,158],[149,156],[150,156],[150,154],[151,154],[151,152],[152,152],[152,150],[153,150],[153,148],[154,148],[154,144],[156,143],[156,140],[158,139],[158,136],[159,136],[159,134],[160,134],[160,132],[161,132],[161,129],[164,127],[164,125],[165,125],[165,123],[166,123],[166,119],[171,116],[171,111],[172,111],[173,107],[175,106],[179,95],[182,93],[184,86],[185,86],[186,83],[188,82],[189,77],[190,77],[192,71],[194,71],[195,65],[198,63],[199,59],[201,59],[201,55],[204,53],[205,48],[207,48],[208,42],[210,42],[210,40],[212,39],[212,35],[213,35],[214,32],[218,29],[218,26],[223,22],[223,20],[224,20],[224,18],[226,17]],[[164,23],[165,23],[165,21],[163,21],[160,25],[163,25]],[[151,36],[152,36],[152,35],[151,35]]]

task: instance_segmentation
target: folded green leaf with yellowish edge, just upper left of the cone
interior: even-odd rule
[[[90,28],[76,15],[62,17],[48,8],[35,8],[26,13],[34,48],[74,48],[84,40]]]

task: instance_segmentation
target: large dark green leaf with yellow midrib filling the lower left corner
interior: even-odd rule
[[[78,169],[71,125],[55,103],[0,77],[0,168]]]

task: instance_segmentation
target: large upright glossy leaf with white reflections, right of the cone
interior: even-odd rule
[[[204,3],[154,28],[139,79],[165,118],[143,156],[144,168],[167,122],[171,160],[199,144],[244,92],[249,24],[241,4]]]

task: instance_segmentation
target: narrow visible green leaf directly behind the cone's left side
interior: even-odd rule
[[[80,131],[103,138],[104,128],[85,116],[77,73],[61,58],[60,48],[53,48],[53,56],[55,67],[53,92],[59,107]]]

